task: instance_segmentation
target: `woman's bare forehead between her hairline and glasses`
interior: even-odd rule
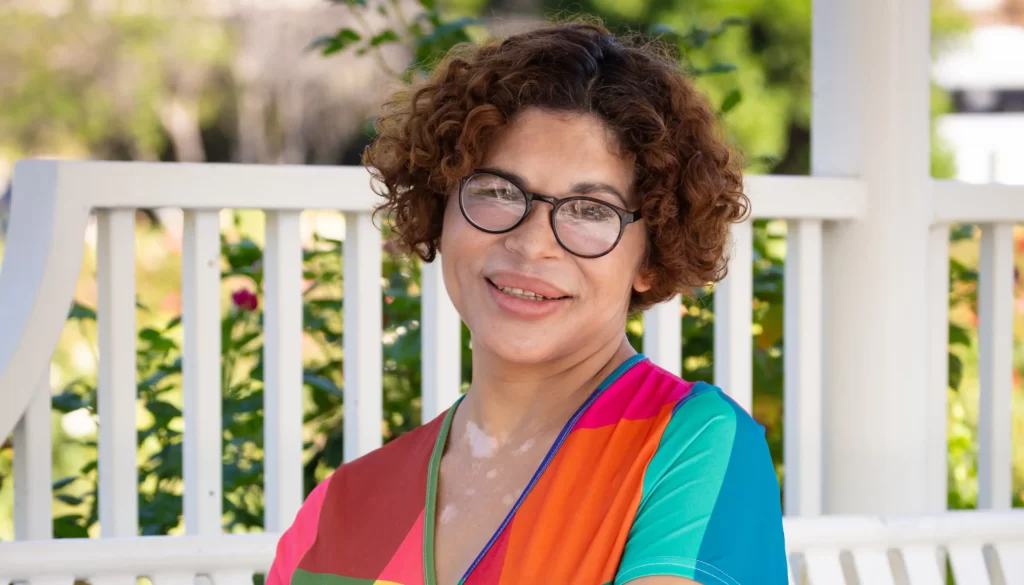
[[[608,127],[589,114],[530,109],[487,148],[481,166],[521,176],[528,189],[560,194],[577,183],[608,183],[630,197],[632,160]]]

